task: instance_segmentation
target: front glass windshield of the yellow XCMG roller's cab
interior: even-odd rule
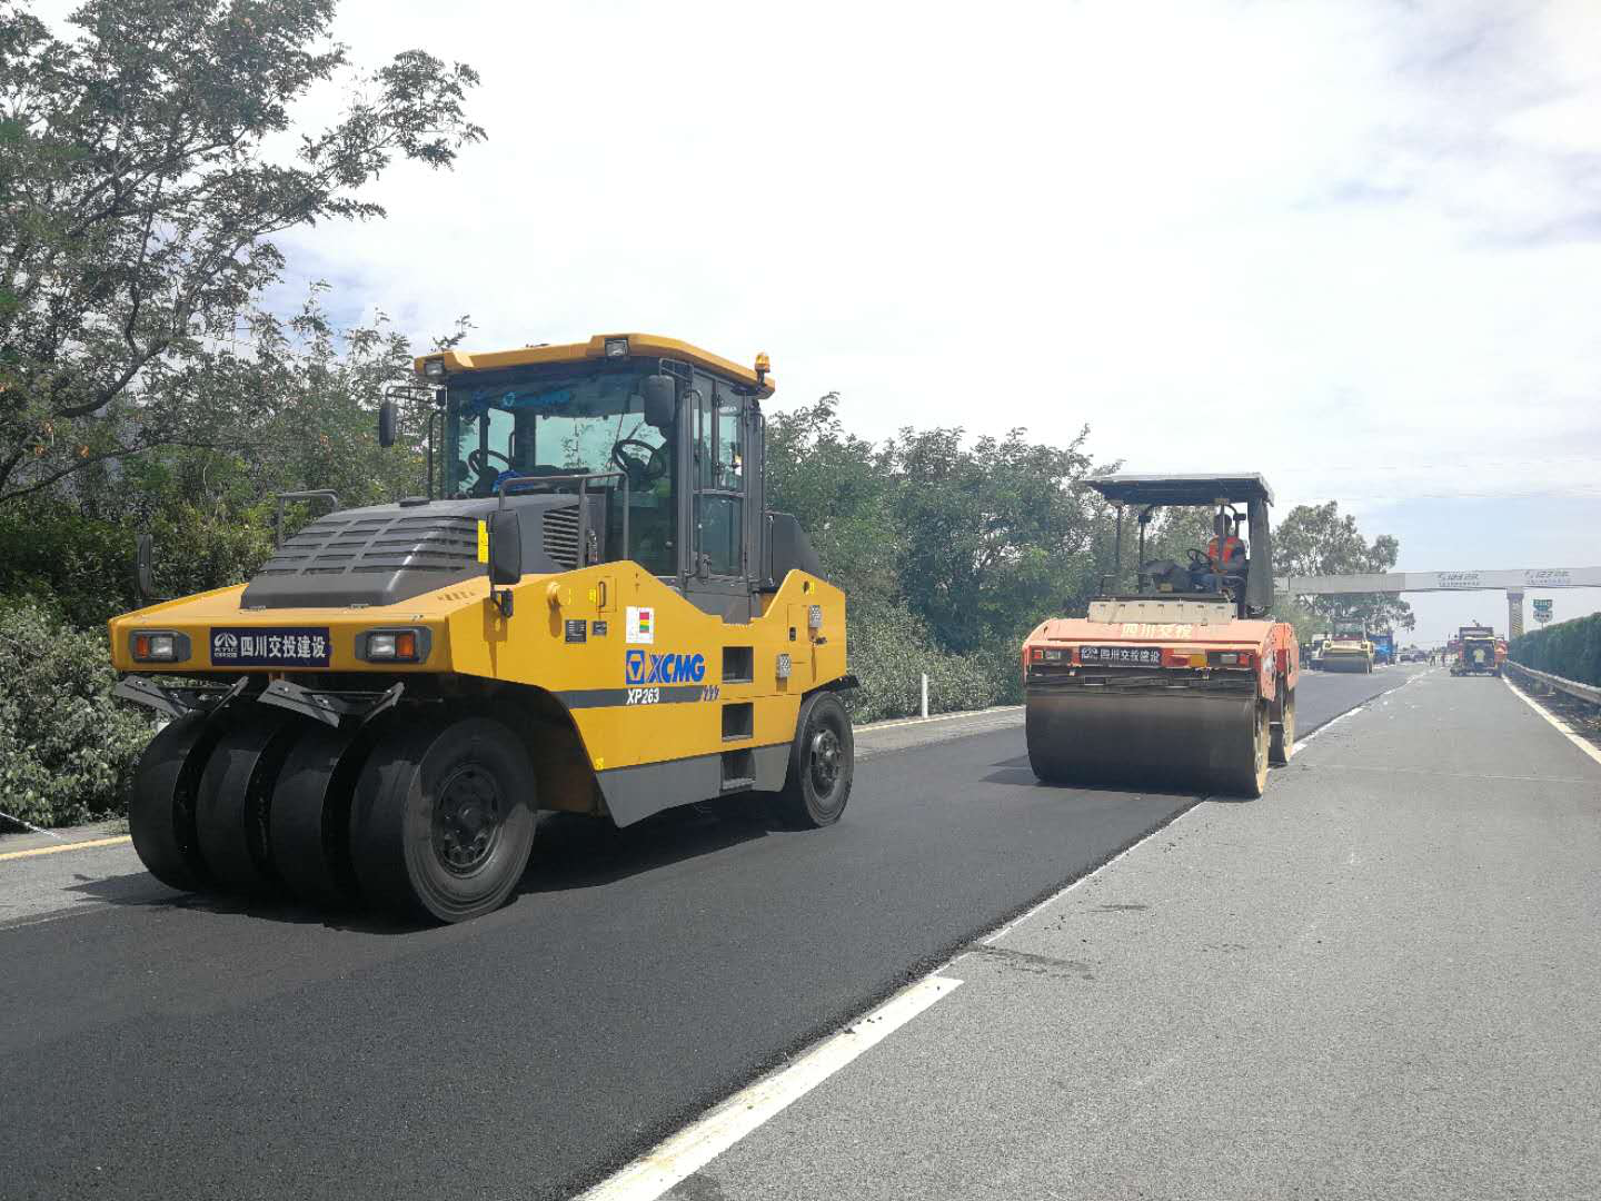
[[[455,376],[445,410],[445,495],[493,496],[514,476],[626,471],[629,557],[671,575],[677,480],[671,429],[645,421],[640,381],[652,367],[634,360]],[[578,480],[552,479],[548,487],[575,492]],[[608,525],[620,530],[621,480],[592,480],[589,490],[612,495]]]

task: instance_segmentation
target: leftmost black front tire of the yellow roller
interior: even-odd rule
[[[133,849],[155,879],[184,892],[211,882],[195,836],[195,796],[224,729],[221,717],[179,717],[150,740],[133,775],[128,796]]]

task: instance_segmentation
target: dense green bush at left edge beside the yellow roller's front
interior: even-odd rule
[[[126,812],[152,722],[110,698],[104,631],[0,597],[0,810],[38,826]]]

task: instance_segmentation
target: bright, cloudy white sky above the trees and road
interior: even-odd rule
[[[344,0],[336,37],[472,64],[488,141],[285,239],[285,298],[767,351],[776,407],[869,437],[1089,424],[1337,500],[1401,570],[1601,564],[1595,0]]]

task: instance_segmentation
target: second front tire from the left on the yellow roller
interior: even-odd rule
[[[218,741],[200,775],[195,831],[218,887],[271,894],[279,887],[267,828],[279,767],[307,722],[256,706]]]

